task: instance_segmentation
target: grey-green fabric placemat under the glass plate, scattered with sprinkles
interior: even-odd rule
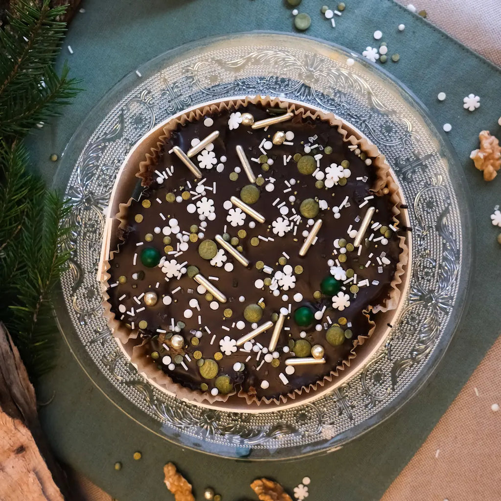
[[[381,30],[389,55],[400,54],[400,62],[389,61],[385,68],[422,100],[438,123],[452,124],[449,138],[469,180],[477,232],[471,304],[464,306],[462,325],[435,377],[403,409],[328,456],[287,463],[236,462],[170,444],[115,407],[62,342],[57,369],[38,388],[40,401],[55,392],[52,403],[40,411],[43,426],[62,460],[120,501],[172,498],[162,483],[162,466],[167,461],[186,473],[198,499],[207,485],[227,501],[255,499],[248,484],[263,475],[281,481],[291,493],[308,475],[312,479],[309,499],[316,501],[379,499],[499,334],[501,249],[489,214],[501,203],[501,180],[485,183],[468,159],[481,129],[501,133],[497,126],[499,70],[392,0],[345,0],[346,10],[336,17],[335,29],[320,14],[324,3],[304,0],[300,6],[300,12],[310,14],[313,21],[308,35],[362,52],[366,46],[379,46],[372,34]],[[290,9],[270,0],[87,0],[82,7],[86,12],[73,21],[61,60],[69,59],[72,76],[82,78],[87,91],[30,142],[34,163],[49,182],[57,168],[57,163],[49,161],[50,154],[60,154],[89,110],[142,63],[206,36],[294,31]],[[397,30],[400,23],[406,26],[403,32]],[[447,94],[444,102],[436,99],[440,91]],[[473,113],[462,107],[462,98],[470,93],[480,96],[480,108]],[[136,450],[143,454],[140,461],[132,459]],[[113,469],[115,461],[123,463],[121,471]]]

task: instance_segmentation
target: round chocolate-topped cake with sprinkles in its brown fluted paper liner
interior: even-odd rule
[[[332,115],[259,97],[164,133],[107,264],[132,362],[195,401],[329,384],[398,302],[407,250],[384,157]]]

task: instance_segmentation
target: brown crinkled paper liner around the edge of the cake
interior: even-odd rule
[[[226,100],[221,101],[218,104],[212,104],[207,106],[201,106],[194,110],[189,111],[186,114],[181,116],[174,117],[163,127],[163,134],[161,134],[157,141],[156,145],[152,146],[150,149],[150,153],[146,153],[146,160],[141,161],[139,163],[139,172],[136,173],[136,177],[141,179],[142,186],[148,186],[151,181],[154,179],[154,171],[155,165],[160,158],[160,153],[163,148],[164,143],[170,138],[171,133],[177,129],[179,125],[184,125],[186,122],[197,121],[203,118],[204,116],[216,113],[219,111],[232,110],[236,108],[241,108],[247,106],[249,103],[252,104],[261,104],[264,107],[280,107],[287,108],[288,111],[295,112],[297,115],[301,115],[302,118],[307,119],[311,118],[313,120],[319,118],[323,121],[329,122],[329,124],[333,127],[337,128],[337,131],[341,134],[345,142],[348,142],[352,145],[356,145],[363,152],[367,154],[368,157],[372,158],[372,165],[376,169],[377,173],[377,182],[376,185],[373,186],[372,190],[376,195],[381,195],[383,193],[383,189],[386,186],[389,189],[390,200],[393,203],[393,222],[398,224],[400,210],[398,205],[401,202],[401,198],[398,196],[398,185],[394,181],[391,176],[390,167],[386,163],[384,155],[379,153],[378,148],[369,142],[367,138],[365,138],[359,131],[352,129],[348,124],[343,122],[342,120],[336,118],[333,114],[324,113],[322,111],[309,109],[304,104],[295,104],[289,103],[287,101],[280,100],[278,98],[270,98],[256,96],[254,98],[246,97],[244,99],[236,99],[236,100]],[[150,141],[151,143],[151,141]],[[370,168],[369,167],[369,168]],[[118,183],[117,183],[118,184]],[[116,186],[117,186],[116,184]],[[129,196],[127,203],[119,204],[119,212],[116,214],[115,218],[119,221],[119,225],[114,235],[111,230],[105,231],[105,238],[109,238],[109,244],[103,245],[103,248],[114,248],[114,242],[117,245],[117,250],[111,250],[110,252],[110,261],[113,259],[113,255],[115,252],[118,252],[118,246],[120,245],[120,241],[123,242],[123,231],[127,227],[127,213],[128,207],[130,207],[132,203],[132,198],[130,198],[130,182],[128,183],[129,191],[128,195],[125,195],[124,199]],[[119,197],[121,190],[117,189],[115,192],[115,196]],[[110,201],[110,206],[112,205],[112,201]],[[110,228],[112,224],[110,223]],[[408,248],[405,243],[405,237],[399,235],[399,247],[401,249],[401,253],[399,255],[399,262],[396,267],[395,275],[390,283],[390,292],[388,298],[384,301],[382,305],[377,305],[376,307],[369,306],[367,311],[364,311],[363,314],[369,318],[369,313],[373,311],[377,312],[388,312],[397,307],[400,300],[400,290],[398,286],[402,283],[401,277],[405,273],[404,267],[407,264],[408,260]],[[106,243],[106,242],[105,242]],[[105,256],[106,257],[106,256]],[[110,268],[109,262],[102,257],[101,270],[102,270],[102,282],[104,285],[103,292],[103,306],[105,309],[104,316],[108,320],[108,326],[111,329],[111,332],[115,337],[117,337],[124,345],[127,344],[131,339],[137,339],[138,330],[131,331],[128,329],[122,322],[115,319],[115,315],[111,312],[111,305],[109,303],[109,295],[106,290],[108,289],[108,279],[110,275],[107,273],[107,270]],[[310,391],[315,391],[319,387],[323,387],[326,384],[329,384],[333,381],[333,378],[339,375],[339,371],[343,371],[350,367],[351,361],[356,357],[356,347],[361,346],[365,343],[367,339],[369,339],[376,330],[376,325],[374,322],[368,320],[370,326],[370,330],[365,336],[358,336],[356,340],[353,341],[353,348],[348,355],[346,360],[343,360],[342,364],[336,366],[334,370],[332,370],[328,375],[325,375],[322,380],[319,380],[315,383],[311,383],[308,386],[303,386],[301,388],[297,388],[290,393],[280,395],[277,398],[267,398],[262,397],[258,398],[256,395],[251,395],[243,390],[239,390],[237,396],[241,397],[245,400],[247,404],[256,404],[261,405],[262,403],[269,404],[284,404],[288,401],[288,399],[296,399],[297,396],[301,395],[303,392],[309,393]],[[384,329],[381,329],[383,331]],[[191,400],[196,402],[204,402],[212,404],[216,401],[225,402],[227,399],[234,395],[236,391],[227,394],[227,395],[216,395],[213,396],[209,392],[201,392],[196,390],[191,390],[189,388],[185,388],[184,386],[175,383],[168,375],[166,375],[163,371],[156,367],[156,363],[153,363],[151,358],[149,357],[149,350],[147,349],[147,343],[142,342],[133,346],[132,348],[132,356],[131,362],[137,367],[137,369],[143,373],[147,378],[153,380],[157,385],[161,386],[163,389],[167,391],[167,393],[175,396],[179,399]]]

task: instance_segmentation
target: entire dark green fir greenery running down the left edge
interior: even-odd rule
[[[78,91],[65,64],[53,68],[65,8],[14,3],[9,30],[0,29],[0,320],[17,344],[30,377],[53,366],[58,330],[53,296],[70,250],[72,228],[60,226],[70,208],[27,172],[23,136],[57,115]],[[66,243],[66,242],[65,242]]]

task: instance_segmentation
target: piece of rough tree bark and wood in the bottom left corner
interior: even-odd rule
[[[19,351],[0,322],[0,499],[70,500],[70,492],[40,426]]]

